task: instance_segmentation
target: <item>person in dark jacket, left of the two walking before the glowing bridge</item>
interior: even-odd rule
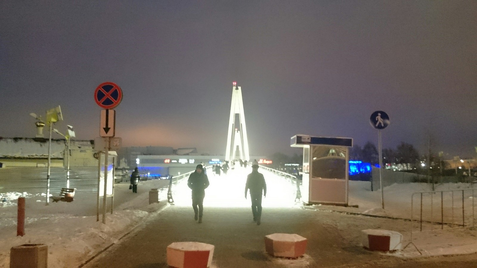
[[[204,173],[202,165],[197,165],[196,171],[189,176],[187,186],[192,189],[192,208],[194,208],[194,220],[202,223],[202,214],[204,211],[205,189],[209,186],[207,175]],[[197,209],[198,206],[198,209]]]

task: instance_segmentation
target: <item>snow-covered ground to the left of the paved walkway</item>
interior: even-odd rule
[[[160,189],[160,203],[149,205],[148,190],[163,188],[168,181],[141,182],[139,194],[128,189],[129,184],[114,186],[114,213],[106,214],[106,224],[96,221],[96,194],[81,193],[73,202],[58,202],[48,206],[46,195],[10,193],[10,201],[0,202],[0,268],[8,268],[10,248],[22,244],[48,245],[48,267],[78,267],[105,247],[118,242],[120,237],[143,222],[150,213],[166,205],[166,189]],[[165,194],[161,194],[165,192]],[[16,236],[18,197],[26,197],[25,235]],[[110,198],[108,198],[108,202]]]

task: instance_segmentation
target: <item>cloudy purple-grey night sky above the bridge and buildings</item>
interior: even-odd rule
[[[70,3],[66,3],[70,2]],[[0,136],[34,137],[61,105],[99,136],[94,89],[123,90],[124,146],[224,154],[232,82],[251,155],[301,153],[294,134],[474,157],[477,1],[0,1]],[[45,132],[47,133],[47,132]],[[61,138],[53,134],[55,138]]]

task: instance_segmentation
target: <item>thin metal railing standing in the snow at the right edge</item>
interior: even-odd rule
[[[472,188],[414,193],[411,196],[411,241],[404,248],[412,244],[419,251],[413,242],[415,233],[475,227],[476,190]],[[418,198],[418,207],[415,207],[415,197]],[[418,228],[415,222],[419,222]],[[429,224],[424,226],[423,223]]]

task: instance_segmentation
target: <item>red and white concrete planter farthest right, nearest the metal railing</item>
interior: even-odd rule
[[[403,235],[395,231],[366,229],[361,234],[363,247],[369,250],[395,251],[403,246]]]

